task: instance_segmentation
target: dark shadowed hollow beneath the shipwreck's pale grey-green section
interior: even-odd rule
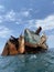
[[[45,52],[45,51],[47,51],[47,50],[46,49],[42,49],[40,47],[37,47],[37,48],[25,47],[25,53],[28,53],[28,54],[35,54],[35,53]]]

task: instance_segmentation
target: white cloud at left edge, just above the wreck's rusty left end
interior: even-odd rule
[[[0,38],[8,38],[11,35],[11,33],[12,33],[12,30],[9,30],[4,25],[0,25]]]

